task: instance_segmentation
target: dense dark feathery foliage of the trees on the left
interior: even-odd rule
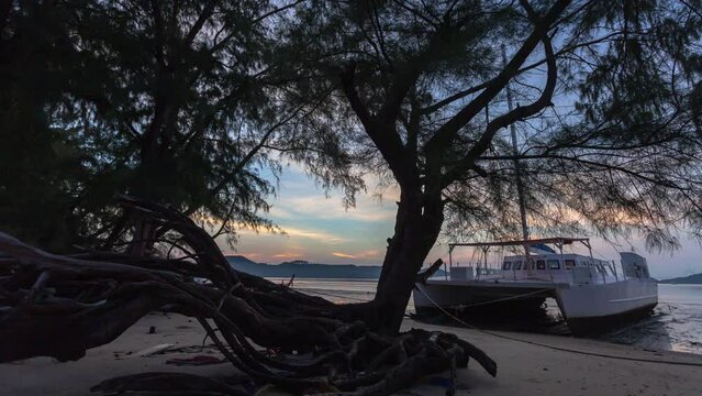
[[[130,194],[197,216],[232,242],[242,226],[272,230],[260,215],[281,160],[270,147],[296,142],[294,122],[312,106],[281,100],[288,76],[271,32],[289,8],[276,7],[11,2],[0,227],[54,250],[94,244],[119,223],[114,196]],[[325,144],[315,158],[337,148]],[[334,162],[320,169],[330,186],[347,169]]]

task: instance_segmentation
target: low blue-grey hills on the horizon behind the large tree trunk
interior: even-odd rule
[[[353,264],[312,264],[286,262],[280,264],[260,264],[242,255],[227,256],[226,260],[237,271],[264,277],[291,277],[298,278],[342,278],[342,279],[378,279],[380,277],[379,265],[353,265]],[[444,276],[443,271],[437,271],[435,276]]]

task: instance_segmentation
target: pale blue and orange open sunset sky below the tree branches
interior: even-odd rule
[[[241,254],[255,262],[278,264],[292,260],[305,260],[325,264],[380,265],[392,237],[397,191],[380,190],[372,182],[357,196],[355,208],[344,209],[341,191],[325,191],[315,185],[299,167],[288,166],[279,182],[268,218],[285,234],[248,229],[238,231],[234,249],[220,243],[225,254]],[[576,237],[576,235],[568,235]],[[577,235],[589,237],[589,235]],[[603,241],[593,238],[595,257],[616,260],[617,251],[636,252],[648,260],[651,275],[665,279],[702,273],[702,248],[693,240],[680,237],[681,249],[675,252],[647,252],[640,240]],[[619,248],[615,244],[619,243]],[[587,251],[579,251],[586,253]],[[448,261],[448,249],[439,241],[426,262],[436,258]],[[456,251],[454,262],[475,260],[470,251]]]

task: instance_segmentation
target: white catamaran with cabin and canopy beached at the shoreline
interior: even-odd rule
[[[564,246],[582,243],[590,254],[564,253]],[[548,245],[555,245],[551,250]],[[484,253],[479,266],[455,266],[453,250],[472,246]],[[494,248],[524,246],[524,254],[505,255],[489,268],[487,254]],[[539,249],[541,248],[541,249]],[[648,315],[658,304],[658,285],[649,276],[646,258],[622,252],[621,264],[592,256],[588,239],[549,238],[526,241],[457,243],[449,245],[449,274],[444,279],[417,283],[417,314],[437,310],[475,315],[509,315],[541,309],[553,297],[576,334],[602,332]]]

